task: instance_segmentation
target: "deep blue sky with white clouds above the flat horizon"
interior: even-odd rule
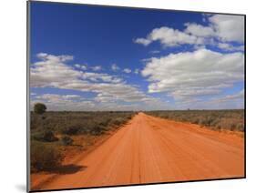
[[[32,2],[32,104],[243,108],[243,28],[240,15]]]

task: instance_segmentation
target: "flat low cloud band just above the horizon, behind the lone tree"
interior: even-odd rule
[[[120,103],[121,99],[118,96],[111,96],[108,94],[97,94],[92,99],[87,99],[84,96],[77,95],[57,95],[57,94],[43,94],[36,96],[31,100],[30,106],[34,107],[36,103],[44,103],[50,111],[104,111],[104,110],[152,110],[164,109],[167,107],[156,98],[143,98],[138,102],[136,95],[131,94],[127,98],[127,103]],[[141,99],[141,98],[139,98]],[[147,106],[144,105],[147,104]]]

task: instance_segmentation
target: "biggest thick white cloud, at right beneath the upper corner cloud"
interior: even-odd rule
[[[152,57],[141,71],[148,92],[166,92],[177,100],[219,94],[243,81],[242,53],[221,54],[208,49]]]

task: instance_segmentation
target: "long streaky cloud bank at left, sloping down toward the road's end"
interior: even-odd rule
[[[40,61],[31,66],[31,87],[56,87],[59,89],[71,89],[97,94],[97,101],[104,102],[104,98],[112,98],[115,101],[125,102],[155,102],[150,96],[138,90],[137,86],[126,84],[117,76],[103,73],[82,72],[67,65],[71,57],[52,56],[45,54],[38,56]],[[128,69],[130,70],[130,69]],[[130,72],[130,71],[129,71]],[[40,96],[37,99],[53,101],[69,99],[75,96]],[[102,99],[102,100],[100,100]],[[49,102],[49,101],[48,101]]]

